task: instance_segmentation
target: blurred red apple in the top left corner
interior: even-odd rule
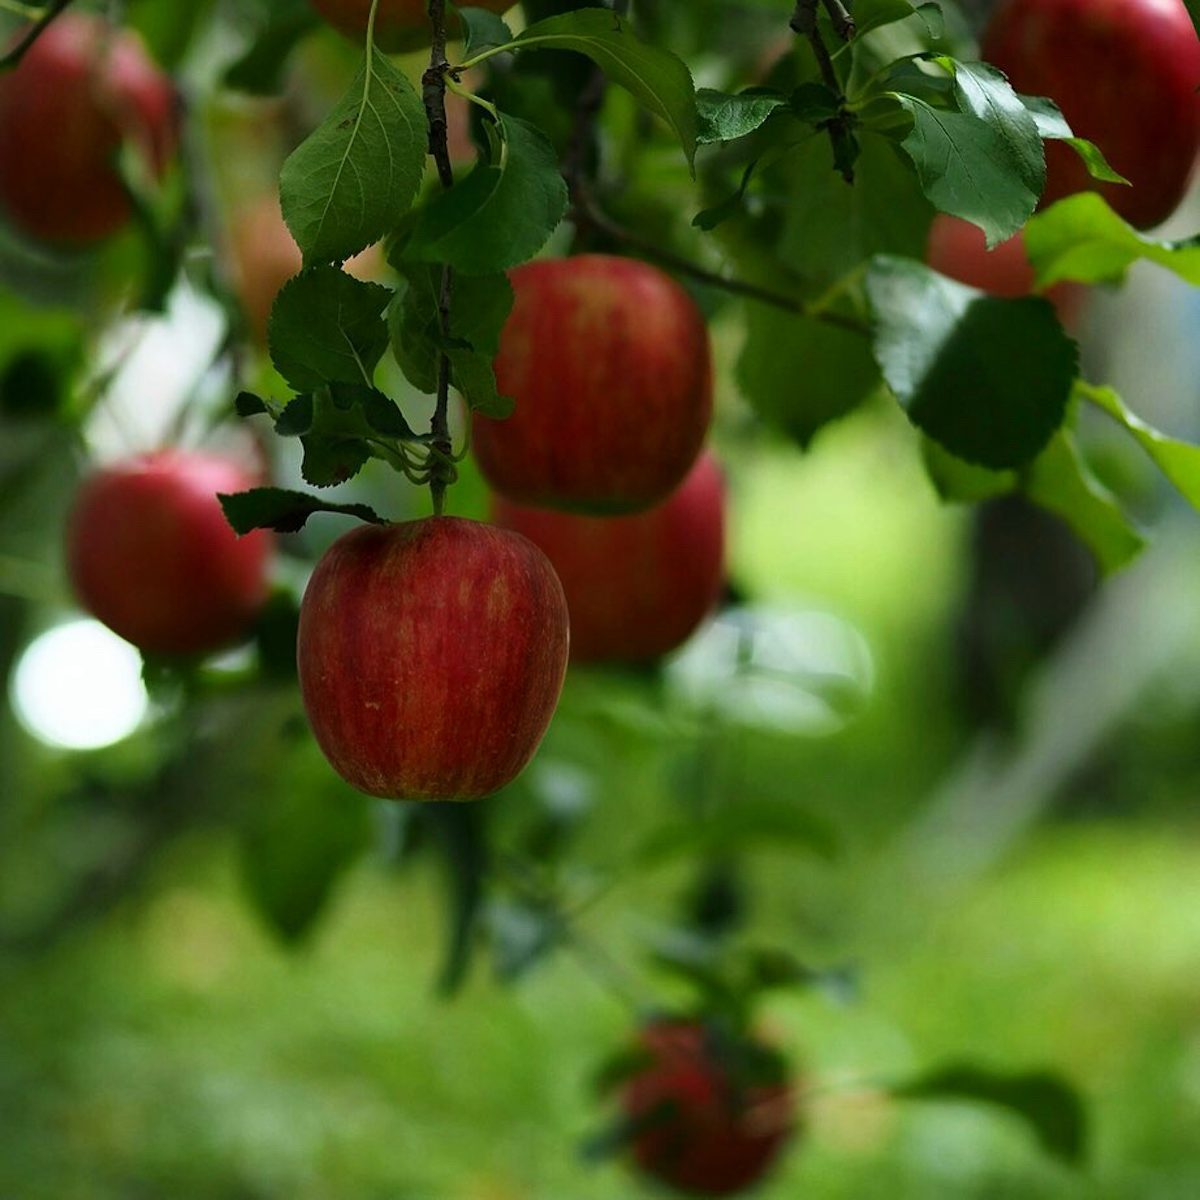
[[[84,247],[132,209],[115,161],[134,143],[162,175],[175,149],[175,90],[128,30],[58,17],[0,74],[0,206],[42,241]]]

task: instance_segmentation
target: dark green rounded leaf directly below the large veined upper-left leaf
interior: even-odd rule
[[[388,348],[383,311],[391,292],[336,266],[313,266],[275,298],[266,326],[275,368],[296,391],[370,384]]]

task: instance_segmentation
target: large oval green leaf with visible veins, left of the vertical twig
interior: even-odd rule
[[[368,53],[280,176],[283,220],[305,266],[342,262],[390,233],[413,205],[427,152],[420,96],[383,54]]]

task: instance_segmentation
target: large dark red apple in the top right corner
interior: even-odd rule
[[[1094,188],[1139,229],[1175,211],[1200,151],[1200,38],[1182,0],[1001,0],[980,53],[1019,92],[1054,100],[1133,185],[1092,179],[1048,142],[1044,205]]]

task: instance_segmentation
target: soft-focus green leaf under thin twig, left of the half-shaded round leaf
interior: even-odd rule
[[[755,412],[802,446],[880,384],[865,337],[767,305],[746,305],[738,384]]]

